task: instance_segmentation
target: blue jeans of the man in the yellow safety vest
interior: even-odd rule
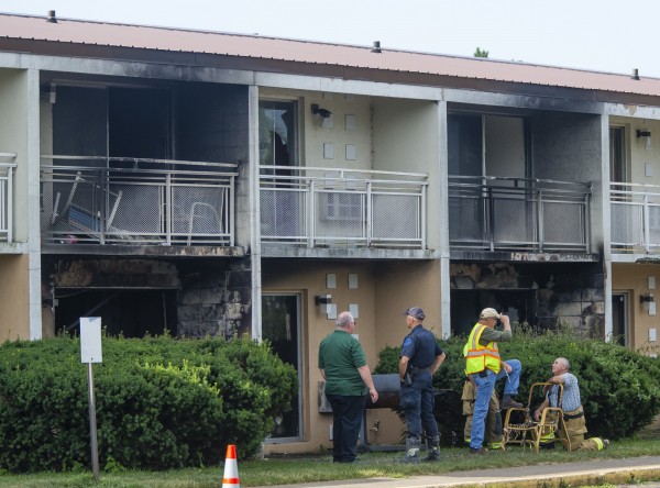
[[[491,401],[491,396],[495,389],[495,381],[506,378],[504,384],[504,395],[516,395],[518,392],[521,369],[520,362],[518,359],[509,359],[505,361],[505,363],[512,367],[508,378],[504,371],[504,367],[497,375],[490,369],[486,369],[486,376],[479,376],[479,374],[470,375],[470,378],[472,381],[474,381],[474,386],[476,387],[474,415],[472,417],[472,432],[470,433],[470,447],[472,448],[480,448],[484,442],[486,415],[488,414],[488,402]]]

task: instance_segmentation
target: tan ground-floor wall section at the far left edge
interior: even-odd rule
[[[0,343],[30,339],[28,255],[0,255]]]

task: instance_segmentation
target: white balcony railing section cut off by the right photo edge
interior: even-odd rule
[[[610,182],[612,251],[660,252],[660,186]]]

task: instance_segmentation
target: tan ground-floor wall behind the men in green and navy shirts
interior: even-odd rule
[[[337,288],[326,287],[326,277],[333,274]],[[349,274],[358,275],[358,288],[349,288]],[[440,335],[439,265],[431,263],[358,263],[287,260],[262,264],[263,292],[295,292],[301,297],[301,365],[304,442],[267,444],[267,452],[315,452],[319,446],[331,447],[332,414],[319,413],[318,382],[322,377],[317,367],[318,345],[334,330],[320,307],[317,295],[331,295],[338,312],[350,304],[359,306],[355,333],[359,335],[373,369],[378,352],[385,346],[399,346],[407,334],[403,311],[413,306],[424,307],[427,323]],[[398,444],[405,424],[389,409],[367,411],[366,426],[378,430],[367,433],[370,444]]]

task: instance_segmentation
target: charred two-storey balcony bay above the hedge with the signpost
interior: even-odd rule
[[[40,82],[42,280],[55,304],[44,326],[94,313],[127,336],[250,333],[250,262],[235,242],[248,89]]]

